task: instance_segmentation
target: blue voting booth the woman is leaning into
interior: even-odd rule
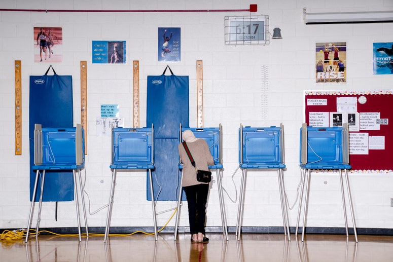
[[[204,139],[207,143],[207,146],[210,149],[210,154],[213,156],[214,165],[209,166],[209,170],[216,171],[216,178],[217,178],[217,186],[219,192],[219,200],[220,200],[220,210],[221,210],[221,222],[223,227],[223,234],[228,240],[228,226],[227,226],[227,218],[225,213],[225,205],[224,205],[224,197],[223,197],[223,188],[222,188],[222,169],[223,169],[223,158],[222,158],[222,126],[219,125],[218,128],[210,127],[210,128],[190,128],[190,127],[182,127],[180,125],[179,128],[179,136],[177,144],[183,142],[182,133],[185,130],[191,130],[196,138]],[[181,163],[180,159],[178,162],[178,170],[180,172],[183,171],[183,164]],[[177,236],[177,228],[178,228],[178,217],[181,211],[181,204],[182,204],[182,180],[183,180],[183,172],[181,174],[180,184],[178,186],[178,195],[177,195],[177,211],[176,211],[176,220],[175,220],[175,229],[174,229],[174,240],[176,241]]]

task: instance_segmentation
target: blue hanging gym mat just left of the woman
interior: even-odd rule
[[[166,69],[169,69],[170,76],[165,75]],[[154,196],[155,200],[175,201],[180,186],[177,151],[179,126],[189,127],[189,77],[175,76],[166,66],[160,76],[148,76],[147,89],[146,124],[153,124],[155,130]],[[152,200],[149,183],[147,189],[147,199]]]

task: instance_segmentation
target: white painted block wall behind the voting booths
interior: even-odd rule
[[[146,125],[147,76],[161,74],[166,63],[157,61],[158,27],[181,27],[181,62],[170,63],[177,75],[190,77],[190,125],[196,122],[196,60],[203,60],[204,126],[223,126],[223,185],[236,199],[240,187],[238,128],[243,126],[285,126],[284,172],[291,226],[296,226],[297,193],[300,181],[299,129],[303,122],[304,90],[390,89],[391,76],[374,76],[372,43],[392,42],[393,23],[305,25],[303,8],[309,11],[391,10],[393,2],[366,1],[28,1],[2,3],[5,9],[47,10],[179,10],[248,9],[252,15],[269,15],[270,28],[280,27],[282,40],[268,46],[225,46],[224,17],[249,12],[176,13],[86,13],[86,12],[0,12],[0,228],[26,228],[29,202],[28,97],[29,76],[44,74],[49,63],[33,62],[33,27],[60,26],[63,29],[63,62],[53,63],[58,74],[72,75],[74,123],[80,123],[80,61],[87,61],[88,155],[85,191],[91,214],[90,227],[104,227],[111,171],[111,139],[96,135],[95,120],[101,104],[119,104],[125,126],[132,126],[132,61],[139,61],[140,126]],[[92,41],[126,41],[126,64],[92,64]],[[315,84],[316,42],[347,43],[347,83]],[[22,61],[22,155],[14,154],[14,61]],[[268,68],[267,107],[262,104],[262,67]],[[38,103],[37,106],[40,106]],[[391,106],[391,105],[387,105]],[[265,113],[267,113],[265,115]],[[101,180],[103,181],[101,183]],[[325,183],[326,181],[326,183]],[[343,227],[343,213],[337,174],[318,174],[311,179],[308,226]],[[350,174],[356,223],[359,228],[393,227],[393,177],[387,173]],[[225,194],[228,225],[235,226],[238,203]],[[174,208],[175,202],[158,202],[157,211]],[[37,209],[36,209],[37,210]],[[171,212],[158,218],[159,227]],[[44,203],[41,227],[75,227],[75,203],[60,202],[58,221],[55,204]],[[33,227],[35,218],[33,220]],[[146,173],[119,173],[111,226],[152,226],[151,202],[146,201]],[[180,226],[187,226],[187,204]],[[243,226],[281,226],[282,218],[275,172],[248,173]],[[172,219],[168,226],[174,226]],[[207,226],[221,226],[217,183],[213,183],[207,207]]]

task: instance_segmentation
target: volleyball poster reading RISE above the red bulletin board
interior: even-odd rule
[[[315,44],[315,81],[346,82],[346,42]]]

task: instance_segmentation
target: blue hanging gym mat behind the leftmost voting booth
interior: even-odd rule
[[[30,167],[34,166],[34,124],[41,124],[43,128],[72,128],[73,119],[72,77],[58,76],[57,74],[30,76]],[[35,171],[30,169],[30,200],[32,199],[34,179]],[[41,188],[38,186],[36,201],[39,201],[40,194]],[[43,201],[72,200],[74,200],[73,172],[48,170],[45,177]]]

